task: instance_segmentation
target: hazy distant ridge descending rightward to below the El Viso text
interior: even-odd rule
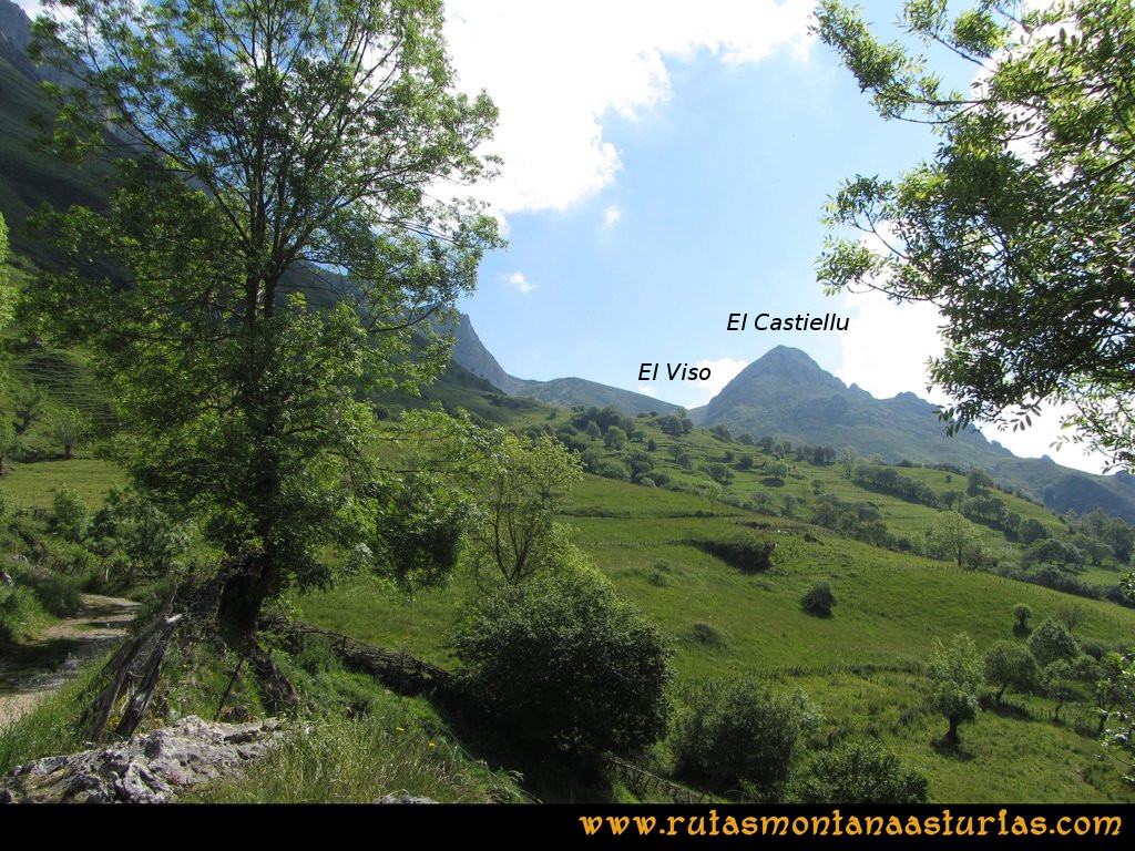
[[[582,378],[555,378],[550,381],[532,381],[515,378],[504,371],[473,330],[473,325],[464,313],[457,315],[452,330],[456,343],[453,360],[474,376],[484,378],[494,387],[512,396],[527,396],[541,402],[550,402],[563,407],[585,405],[587,407],[614,407],[623,414],[634,416],[641,413],[669,413],[678,405],[662,402],[641,393],[622,390]]]

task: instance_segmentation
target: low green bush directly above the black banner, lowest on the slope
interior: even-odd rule
[[[878,742],[818,753],[798,795],[805,803],[926,803],[930,783]]]

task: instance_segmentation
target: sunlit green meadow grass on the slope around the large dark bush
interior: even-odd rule
[[[1135,641],[1135,610],[878,549],[800,521],[718,511],[708,515],[700,497],[595,477],[566,506],[577,544],[671,634],[680,681],[756,674],[776,689],[804,689],[833,736],[880,739],[931,778],[934,800],[1135,800],[1099,762],[1094,734],[1049,721],[1046,699],[1014,697],[1032,719],[982,713],[962,725],[960,752],[941,751],[934,742],[945,722],[924,707],[922,673],[933,638],[966,631],[982,650],[1012,639],[1018,603],[1040,623],[1073,600],[1086,615],[1077,637],[1108,647]],[[740,530],[776,541],[772,571],[746,575],[692,545]],[[800,608],[801,593],[818,580],[838,598],[831,618]],[[452,666],[444,637],[476,591],[472,582],[459,573],[447,588],[414,599],[382,588],[355,579],[297,604],[316,623]]]

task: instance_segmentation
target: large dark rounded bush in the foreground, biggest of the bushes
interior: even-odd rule
[[[665,732],[665,639],[590,570],[561,570],[481,598],[451,647],[460,684],[530,742],[633,751]]]

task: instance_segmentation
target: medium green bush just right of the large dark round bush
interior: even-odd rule
[[[758,680],[706,680],[683,689],[670,735],[679,775],[782,800],[802,738],[818,725],[804,692],[777,696]]]

